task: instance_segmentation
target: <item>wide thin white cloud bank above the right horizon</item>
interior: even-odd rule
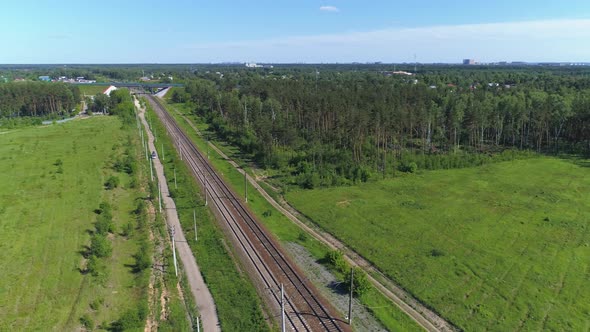
[[[187,61],[590,61],[588,40],[590,19],[389,28],[201,44],[190,47],[194,55],[211,58]]]

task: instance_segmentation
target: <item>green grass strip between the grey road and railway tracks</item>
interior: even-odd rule
[[[156,146],[160,157],[164,144],[165,156],[161,161],[168,187],[183,231],[215,300],[221,328],[227,331],[268,331],[269,327],[264,322],[261,310],[262,304],[254,286],[232,260],[228,252],[231,244],[224,240],[223,233],[215,223],[215,217],[204,206],[199,186],[176,154],[170,137],[164,134],[165,129],[161,122],[154,121],[157,119],[155,113],[149,110],[148,117],[157,135]],[[178,189],[174,183],[175,169]],[[195,241],[193,211],[196,212],[198,241]],[[188,296],[189,293],[186,294]]]

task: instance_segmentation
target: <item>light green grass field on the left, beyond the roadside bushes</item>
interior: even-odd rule
[[[0,330],[71,331],[84,314],[109,324],[143,298],[131,271],[138,245],[118,234],[141,194],[108,166],[127,135],[118,118],[100,117],[0,136]],[[112,174],[121,185],[105,191]],[[100,283],[82,273],[81,253],[102,201],[117,232]]]

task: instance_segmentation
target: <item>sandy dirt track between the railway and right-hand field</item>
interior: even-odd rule
[[[174,110],[178,115],[180,115],[190,126],[202,136],[199,129],[188,119],[186,116],[182,115],[178,111]],[[229,158],[225,153],[223,153],[219,148],[209,142],[209,146],[215,150],[222,158],[227,160],[233,167],[235,167],[238,172],[244,174],[244,170],[231,158]],[[403,290],[401,287],[397,286],[393,281],[387,278],[383,273],[381,273],[373,264],[369,261],[361,257],[359,254],[354,252],[352,249],[348,248],[344,243],[340,240],[336,239],[331,234],[320,230],[317,227],[312,227],[307,223],[304,223],[301,220],[305,220],[305,217],[302,216],[295,208],[289,205],[286,201],[282,200],[281,203],[277,202],[274,198],[272,198],[266,190],[264,190],[249,174],[246,174],[246,177],[250,184],[256,188],[256,190],[277,210],[279,210],[283,215],[285,215],[289,220],[303,229],[305,232],[313,236],[318,241],[324,243],[331,249],[337,249],[342,251],[344,254],[344,258],[353,266],[360,267],[361,269],[367,272],[367,277],[379,290],[383,295],[393,301],[399,309],[405,312],[408,316],[410,316],[416,323],[418,323],[422,328],[427,331],[456,331],[452,324],[448,323],[445,319],[437,315],[432,310],[428,309],[418,300],[416,300],[413,296]]]

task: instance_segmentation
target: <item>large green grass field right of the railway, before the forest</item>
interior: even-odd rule
[[[535,158],[287,199],[462,329],[588,331],[589,174]]]

